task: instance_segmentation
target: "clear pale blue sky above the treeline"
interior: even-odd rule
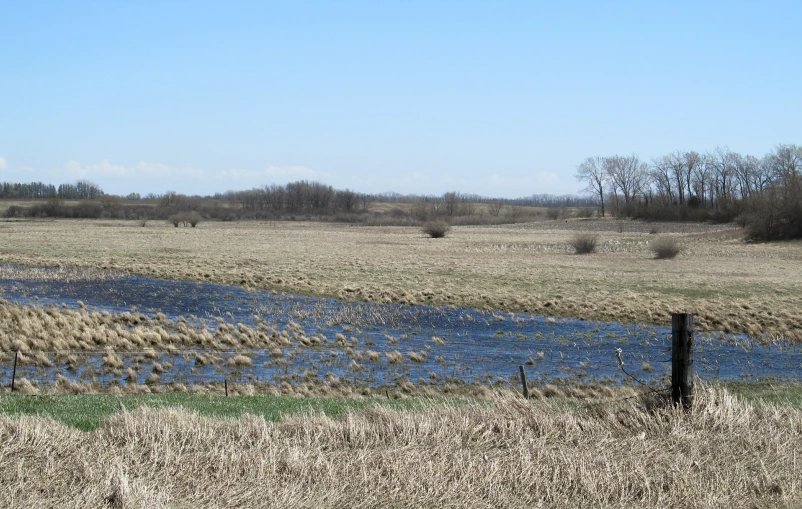
[[[0,181],[574,194],[802,144],[802,2],[0,0]]]

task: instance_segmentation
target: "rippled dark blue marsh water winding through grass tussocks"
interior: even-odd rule
[[[63,269],[38,269],[42,273]],[[104,278],[0,278],[0,298],[42,307],[58,306],[149,316],[163,313],[199,328],[214,329],[221,321],[251,327],[266,323],[276,329],[299,324],[307,335],[328,342],[282,348],[277,360],[269,348],[248,350],[252,366],[227,362],[243,352],[214,351],[221,362],[199,364],[187,352],[159,352],[145,359],[136,352],[118,351],[126,365],[138,368],[143,383],[153,362],[169,368],[161,383],[208,383],[223,379],[277,383],[324,380],[328,376],[371,386],[411,381],[494,384],[517,383],[523,365],[535,383],[620,384],[633,377],[664,386],[670,375],[670,327],[622,325],[555,319],[524,313],[490,312],[435,306],[343,302],[239,287],[159,280],[141,276]],[[343,334],[348,348],[334,343]],[[434,339],[436,338],[436,339]],[[802,375],[802,348],[764,345],[745,336],[695,334],[695,370],[703,379],[722,381],[798,381]],[[622,350],[624,373],[616,349]],[[380,358],[366,361],[365,351]],[[196,351],[201,354],[204,352]],[[360,353],[361,352],[361,353]],[[403,360],[390,362],[387,353],[400,352]],[[412,354],[412,355],[410,355]],[[76,380],[112,383],[115,373],[104,369],[103,352],[89,352],[81,366],[20,366],[17,376],[49,381],[57,375]],[[414,357],[414,359],[413,359]],[[0,364],[0,380],[8,383],[11,357]],[[119,373],[118,373],[119,374]],[[124,383],[124,382],[123,382]]]

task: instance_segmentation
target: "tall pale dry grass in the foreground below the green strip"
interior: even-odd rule
[[[633,400],[634,401],[634,400]],[[334,420],[141,407],[91,433],[0,417],[3,507],[799,507],[802,412],[559,400]]]

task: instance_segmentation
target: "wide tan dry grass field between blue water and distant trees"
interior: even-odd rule
[[[454,227],[430,242],[414,227],[6,221],[0,263],[628,323],[665,325],[671,312],[687,310],[703,328],[802,336],[802,244],[748,244],[731,227],[666,223],[661,232],[681,241],[682,259],[693,265],[658,264],[651,227],[606,220]],[[592,257],[570,256],[570,239],[582,231],[605,232]]]

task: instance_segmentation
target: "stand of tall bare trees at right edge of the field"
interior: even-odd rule
[[[763,157],[728,149],[677,151],[650,163],[637,155],[589,157],[576,178],[602,215],[648,220],[737,220],[755,239],[802,237],[802,147]]]

